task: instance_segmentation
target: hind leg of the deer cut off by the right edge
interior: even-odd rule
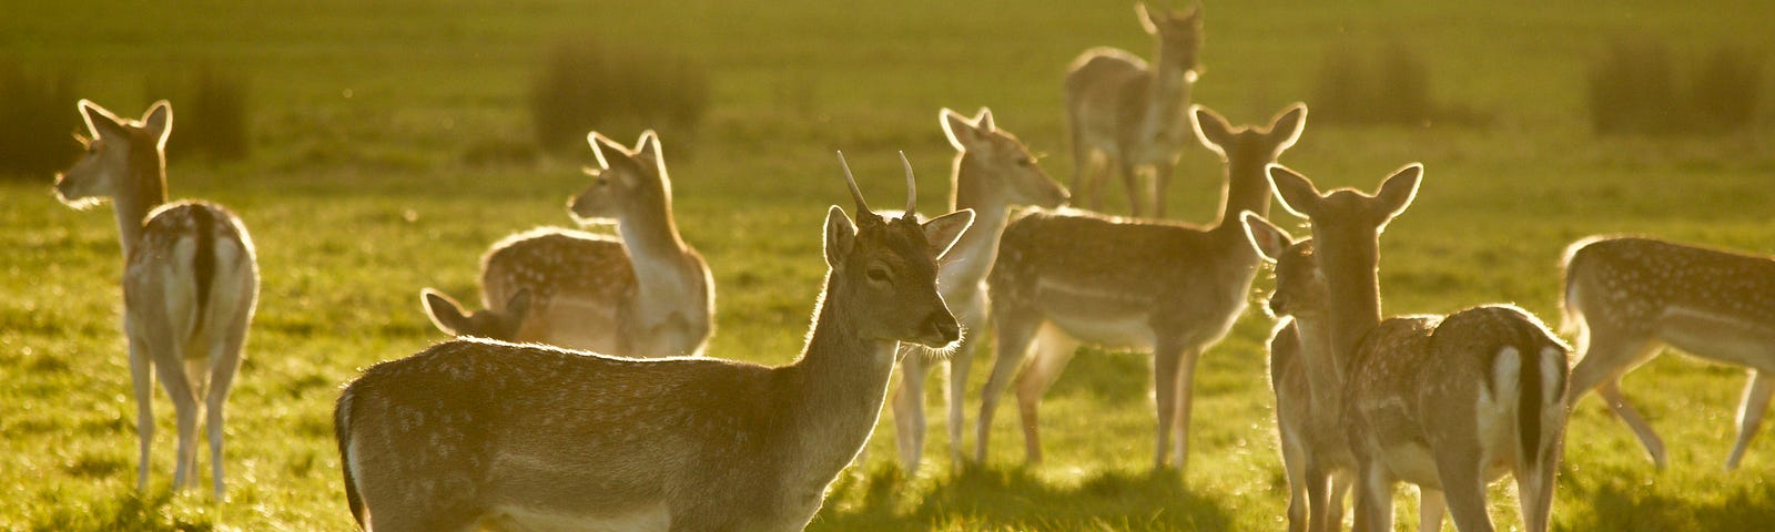
[[[1578,397],[1583,397],[1585,392],[1596,388],[1596,394],[1603,395],[1603,401],[1615,411],[1615,417],[1633,429],[1633,434],[1640,438],[1640,445],[1645,447],[1645,454],[1661,470],[1665,468],[1663,440],[1658,438],[1653,426],[1640,417],[1640,411],[1635,410],[1633,404],[1628,404],[1628,397],[1621,394],[1621,376],[1633,371],[1656,353],[1658,344],[1651,339],[1596,330],[1589,332],[1583,358],[1580,358],[1578,365],[1571,369],[1567,404],[1576,404]]]

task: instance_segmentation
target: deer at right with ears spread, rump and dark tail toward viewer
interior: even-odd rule
[[[1416,197],[1411,163],[1367,195],[1321,193],[1269,167],[1282,206],[1312,223],[1324,275],[1331,358],[1345,376],[1340,426],[1354,458],[1354,530],[1392,530],[1393,486],[1416,484],[1425,530],[1441,512],[1493,530],[1486,484],[1511,473],[1526,530],[1546,530],[1564,449],[1569,348],[1534,314],[1480,305],[1381,319],[1379,238]],[[1432,520],[1434,518],[1434,520]]]

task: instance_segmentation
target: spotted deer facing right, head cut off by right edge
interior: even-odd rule
[[[1569,401],[1596,390],[1661,470],[1663,440],[1621,394],[1621,376],[1665,346],[1750,371],[1738,408],[1736,470],[1775,395],[1775,261],[1640,236],[1590,236],[1566,248],[1564,332],[1580,355]]]

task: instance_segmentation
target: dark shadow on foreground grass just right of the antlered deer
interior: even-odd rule
[[[1225,530],[1230,523],[1223,500],[1189,491],[1175,470],[1102,472],[1063,486],[1028,468],[914,481],[888,465],[841,477],[809,530]]]

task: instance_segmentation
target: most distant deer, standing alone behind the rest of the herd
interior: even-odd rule
[[[1152,64],[1104,46],[1086,50],[1067,66],[1072,192],[1085,207],[1102,211],[1104,174],[1115,167],[1132,215],[1164,218],[1172,168],[1189,145],[1186,113],[1202,51],[1202,5],[1172,12],[1134,4],[1134,14],[1157,39]]]

